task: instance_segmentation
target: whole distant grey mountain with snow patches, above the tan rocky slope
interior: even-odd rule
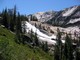
[[[80,23],[80,6],[72,6],[61,11],[38,12],[32,14],[32,16],[35,16],[40,22],[55,26],[73,26],[76,22]]]

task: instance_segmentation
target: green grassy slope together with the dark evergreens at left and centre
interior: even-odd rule
[[[0,26],[0,60],[52,60],[52,56],[39,47],[37,34],[28,36],[22,32],[22,21],[28,21],[25,15],[20,15],[14,9],[5,9],[1,13]],[[36,18],[33,18],[33,20]],[[25,27],[25,23],[24,23]],[[48,51],[48,45],[45,45]]]

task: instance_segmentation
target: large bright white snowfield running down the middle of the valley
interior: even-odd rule
[[[29,22],[25,21],[25,23],[26,23],[25,25],[26,25],[27,33],[32,30],[34,33],[37,33],[37,37],[40,41],[47,42],[48,44],[53,44],[53,45],[56,44],[56,41],[52,40],[52,39],[56,39],[56,35],[53,34],[52,36],[48,36],[48,35],[42,33],[35,26],[31,25]],[[62,42],[64,43],[64,40],[62,40]]]

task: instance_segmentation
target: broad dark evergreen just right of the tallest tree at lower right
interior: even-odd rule
[[[65,60],[73,60],[72,39],[68,34],[66,34],[65,38],[64,56]]]

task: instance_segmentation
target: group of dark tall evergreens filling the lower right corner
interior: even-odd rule
[[[61,32],[58,29],[57,44],[54,48],[54,60],[80,60],[80,38],[72,39],[71,34],[66,33],[65,43],[61,41]]]

